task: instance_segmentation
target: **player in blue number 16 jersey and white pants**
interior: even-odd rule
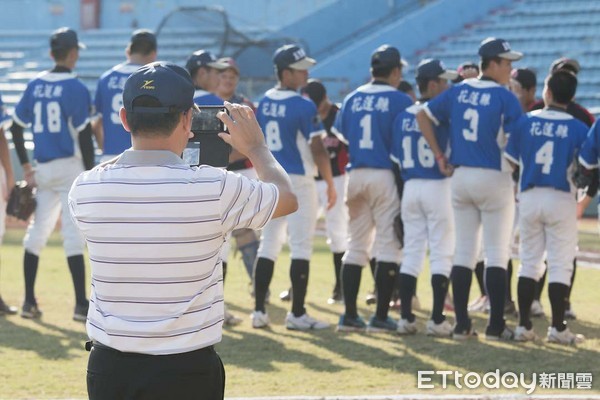
[[[427,59],[417,67],[417,85],[421,98],[398,114],[394,121],[390,157],[400,167],[404,191],[402,193],[402,221],[404,247],[400,269],[400,307],[402,318],[397,332],[402,335],[417,332],[412,313],[412,297],[417,288],[417,277],[423,268],[429,244],[429,266],[433,291],[431,319],[427,334],[448,337],[452,325],[444,315],[444,300],[448,293],[448,277],[452,270],[454,251],[454,216],[450,199],[450,180],[435,163],[433,152],[419,131],[415,115],[423,104],[448,88],[448,79],[458,73],[446,69],[441,61]],[[446,152],[448,124],[435,128],[440,149]]]

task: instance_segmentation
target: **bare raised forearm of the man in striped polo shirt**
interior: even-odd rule
[[[266,146],[259,146],[247,152],[254,165],[256,174],[262,182],[272,183],[279,190],[279,201],[273,218],[293,213],[298,209],[298,200],[292,191],[292,183],[288,174],[277,162]]]

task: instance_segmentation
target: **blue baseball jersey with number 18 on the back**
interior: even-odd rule
[[[73,73],[43,72],[27,84],[13,119],[33,132],[39,162],[76,154],[78,133],[90,120],[91,97]]]

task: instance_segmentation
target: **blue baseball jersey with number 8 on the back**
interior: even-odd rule
[[[293,90],[270,89],[258,104],[256,118],[269,150],[288,174],[316,176],[309,143],[324,129],[311,100]]]

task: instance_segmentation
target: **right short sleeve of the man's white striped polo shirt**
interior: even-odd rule
[[[279,190],[272,183],[260,182],[226,171],[221,194],[223,233],[234,229],[261,229],[273,216]]]

